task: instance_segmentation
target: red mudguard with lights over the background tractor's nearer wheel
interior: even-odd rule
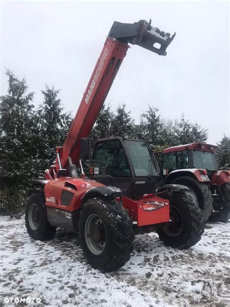
[[[181,170],[171,171],[167,176],[167,178],[165,179],[164,184],[167,185],[173,182],[176,178],[183,176],[191,176],[193,178],[196,178],[200,182],[210,182],[206,170],[181,169]]]

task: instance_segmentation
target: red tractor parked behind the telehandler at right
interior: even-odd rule
[[[191,143],[163,151],[164,184],[180,184],[193,189],[204,221],[230,219],[230,171],[218,171],[216,146]]]

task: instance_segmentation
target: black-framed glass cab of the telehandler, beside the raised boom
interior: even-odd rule
[[[90,179],[120,188],[122,195],[135,199],[153,193],[161,174],[148,142],[111,137],[95,142]]]

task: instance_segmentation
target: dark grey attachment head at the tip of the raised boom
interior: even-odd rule
[[[176,33],[171,35],[170,33],[165,33],[158,28],[152,27],[150,19],[149,22],[140,20],[134,23],[115,21],[108,36],[125,44],[131,43],[132,45],[139,45],[159,55],[166,55],[166,48],[175,35]],[[160,48],[154,47],[155,43],[160,44]]]

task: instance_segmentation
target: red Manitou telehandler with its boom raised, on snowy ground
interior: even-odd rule
[[[131,140],[127,141],[129,144],[121,138],[108,140],[111,141],[106,149],[108,155],[101,156],[105,163],[107,159],[122,159],[124,154],[129,156],[127,161],[111,165],[112,185],[99,183],[96,177],[97,181],[86,178],[80,159],[81,151],[82,158],[88,158],[87,137],[130,48],[129,43],[166,55],[174,36],[152,27],[151,20],[133,24],[114,22],[64,145],[56,148],[55,165],[45,171],[44,178],[33,180],[41,192],[34,193],[26,206],[30,237],[51,238],[57,227],[77,231],[84,256],[101,272],[122,267],[130,259],[133,231],[156,230],[165,244],[181,249],[199,241],[203,224],[196,195],[180,185],[158,188],[160,171],[146,142],[136,142],[137,148],[131,153]],[[154,46],[156,43],[159,49]],[[78,164],[82,169],[80,176]],[[119,177],[119,171],[125,178]]]

